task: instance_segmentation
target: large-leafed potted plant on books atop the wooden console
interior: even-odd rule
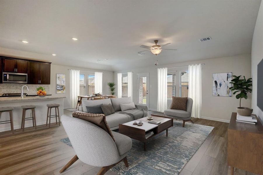
[[[234,91],[233,94],[236,95],[236,99],[240,99],[239,101],[239,107],[236,108],[237,112],[239,115],[244,115],[244,116],[250,116],[253,112],[252,108],[247,108],[247,107],[241,107],[241,99],[248,99],[248,93],[252,92],[252,89],[250,88],[252,86],[252,78],[248,78],[246,80],[245,76],[244,79],[240,79],[241,76],[235,76],[233,80],[231,80],[231,84],[233,84],[233,87],[230,87],[229,89],[231,91]]]

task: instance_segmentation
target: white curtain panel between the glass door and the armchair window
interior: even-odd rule
[[[157,111],[163,112],[167,109],[167,67],[157,69],[158,99]]]

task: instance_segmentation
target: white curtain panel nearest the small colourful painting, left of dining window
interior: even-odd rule
[[[79,95],[79,70],[69,70],[70,96],[72,108],[76,108]]]

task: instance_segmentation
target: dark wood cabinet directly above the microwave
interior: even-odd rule
[[[27,73],[27,60],[3,58],[3,72]]]

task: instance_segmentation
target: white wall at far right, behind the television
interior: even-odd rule
[[[252,49],[251,49],[251,74],[252,74],[252,103],[253,113],[256,114],[261,122],[263,121],[263,112],[257,107],[257,64],[263,58],[263,2],[261,1],[257,22],[254,29]],[[263,90],[263,89],[262,89]]]

